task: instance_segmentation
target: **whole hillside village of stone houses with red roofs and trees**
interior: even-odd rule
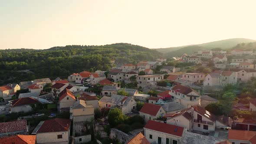
[[[0,143],[256,144],[255,56],[113,59],[108,71],[0,86]]]

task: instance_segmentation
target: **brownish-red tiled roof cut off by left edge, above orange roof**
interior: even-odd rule
[[[12,131],[26,131],[26,120],[0,123],[0,134]]]

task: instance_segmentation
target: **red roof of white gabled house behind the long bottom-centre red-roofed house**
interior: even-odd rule
[[[161,108],[160,105],[145,103],[141,108],[140,112],[144,114],[156,116],[160,108]]]

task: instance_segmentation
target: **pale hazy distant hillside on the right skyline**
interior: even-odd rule
[[[197,45],[179,46],[179,47],[171,47],[171,48],[156,49],[156,50],[158,52],[164,53],[165,57],[170,58],[173,56],[182,55],[183,53],[192,54],[193,52],[197,52],[200,49],[214,49],[214,48],[230,49],[239,43],[250,43],[255,41],[256,40],[253,40],[253,39],[235,38],[235,39],[224,39],[224,40],[219,40],[219,41],[214,41],[209,43],[202,43]]]

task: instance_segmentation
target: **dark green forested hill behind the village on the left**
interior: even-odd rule
[[[43,50],[5,49],[0,50],[0,85],[46,77],[67,78],[83,70],[108,70],[113,60],[116,64],[137,63],[153,61],[160,56],[156,50],[128,43],[56,46]]]

